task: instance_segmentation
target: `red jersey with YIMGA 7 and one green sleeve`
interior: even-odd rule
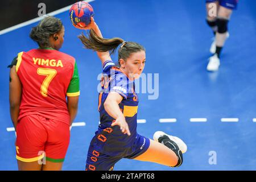
[[[79,96],[75,58],[55,49],[20,52],[16,72],[22,84],[19,119],[38,114],[69,124],[66,96]]]

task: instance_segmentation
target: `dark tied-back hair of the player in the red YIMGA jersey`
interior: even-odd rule
[[[60,32],[62,27],[60,19],[47,16],[31,29],[30,38],[38,43],[39,47],[49,47],[49,37]]]

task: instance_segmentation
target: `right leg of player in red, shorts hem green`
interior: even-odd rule
[[[60,122],[54,119],[46,119],[44,127],[48,131],[45,146],[46,161],[43,171],[60,171],[68,150],[70,130],[68,122]]]

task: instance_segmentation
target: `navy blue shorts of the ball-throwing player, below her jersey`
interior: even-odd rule
[[[134,144],[130,146],[130,151],[133,151],[131,154],[129,154],[129,152],[124,152],[121,155],[110,156],[104,154],[104,151],[97,151],[96,147],[90,144],[85,171],[112,171],[115,163],[120,159],[134,159],[146,152],[149,146],[150,139],[139,134],[137,134]],[[123,148],[123,151],[127,151],[127,148]]]

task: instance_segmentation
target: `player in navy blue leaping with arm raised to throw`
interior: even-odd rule
[[[90,29],[89,37],[82,34],[79,38],[85,48],[97,51],[103,70],[98,100],[100,125],[90,142],[86,170],[112,170],[122,158],[179,167],[183,162],[182,153],[187,151],[181,139],[162,131],[154,134],[155,140],[137,133],[139,99],[134,80],[144,69],[144,47],[121,38],[102,38],[93,18],[84,29]],[[110,54],[117,48],[118,65],[115,65]]]

